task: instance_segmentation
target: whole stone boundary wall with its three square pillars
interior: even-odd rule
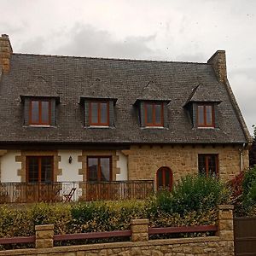
[[[131,241],[53,247],[53,225],[36,228],[36,248],[1,251],[0,255],[36,256],[232,256],[233,207],[218,206],[217,236],[148,241],[148,219],[131,220]]]

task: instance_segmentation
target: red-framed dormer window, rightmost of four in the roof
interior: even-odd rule
[[[212,105],[197,105],[197,126],[214,127],[214,108]]]

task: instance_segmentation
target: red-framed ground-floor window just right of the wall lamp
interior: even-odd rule
[[[87,157],[87,181],[104,182],[112,180],[111,156]]]

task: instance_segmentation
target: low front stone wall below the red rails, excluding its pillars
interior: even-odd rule
[[[0,252],[0,255],[35,256],[232,256],[232,241],[220,241],[218,237],[165,239],[140,242],[116,242],[70,247],[20,249]]]

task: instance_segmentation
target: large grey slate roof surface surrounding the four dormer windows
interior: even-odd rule
[[[183,108],[195,87],[218,99],[219,129],[192,128]],[[199,91],[195,91],[197,95]],[[195,97],[196,95],[193,95]],[[200,94],[198,94],[199,96]],[[20,96],[55,96],[57,125],[23,125]],[[84,128],[81,97],[118,99],[115,127]],[[166,100],[168,128],[141,128],[137,99]],[[13,54],[0,81],[0,145],[4,143],[247,143],[230,96],[207,63],[132,61]]]

